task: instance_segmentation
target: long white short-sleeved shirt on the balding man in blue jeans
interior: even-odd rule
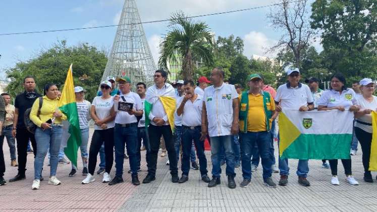
[[[231,135],[233,123],[233,99],[238,98],[234,85],[223,83],[204,89],[203,102],[207,111],[210,137]]]

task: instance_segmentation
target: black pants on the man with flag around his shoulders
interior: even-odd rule
[[[157,166],[157,154],[160,144],[160,138],[161,135],[164,136],[165,140],[165,146],[168,150],[168,157],[169,157],[169,163],[170,163],[170,173],[171,174],[178,174],[178,166],[177,166],[177,153],[174,148],[174,141],[173,141],[173,133],[172,129],[170,128],[170,125],[164,125],[164,126],[154,126],[149,125],[148,128],[148,134],[149,134],[149,141],[150,141],[150,160],[148,167],[150,169],[148,170],[148,174],[155,176],[156,175],[156,166]]]

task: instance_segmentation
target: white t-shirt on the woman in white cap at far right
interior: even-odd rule
[[[372,102],[368,102],[363,96],[357,98],[357,101],[359,102],[360,107],[361,107],[360,111],[363,111],[365,109],[369,109],[369,110],[372,110],[372,111],[377,110],[377,97],[376,96],[373,96]],[[371,114],[365,114],[364,116],[357,118],[356,120],[358,120],[360,122],[365,122],[365,123],[371,124],[372,123],[372,116],[371,116]],[[368,133],[373,132],[372,126],[360,124],[357,121],[355,122],[355,127],[358,127],[360,129],[364,130],[365,132],[368,132]]]

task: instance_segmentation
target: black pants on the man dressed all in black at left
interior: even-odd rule
[[[17,155],[18,155],[18,174],[25,175],[26,161],[27,161],[27,145],[29,139],[34,151],[34,158],[37,153],[37,143],[35,142],[34,134],[30,133],[27,129],[18,128],[16,130],[17,139]]]

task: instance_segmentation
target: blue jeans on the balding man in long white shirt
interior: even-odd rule
[[[235,160],[233,151],[233,135],[215,136],[211,139],[211,160],[212,160],[212,177],[219,177],[221,174],[220,154],[221,149],[225,149],[225,158],[227,162],[226,174],[228,176],[236,176],[234,172]]]

